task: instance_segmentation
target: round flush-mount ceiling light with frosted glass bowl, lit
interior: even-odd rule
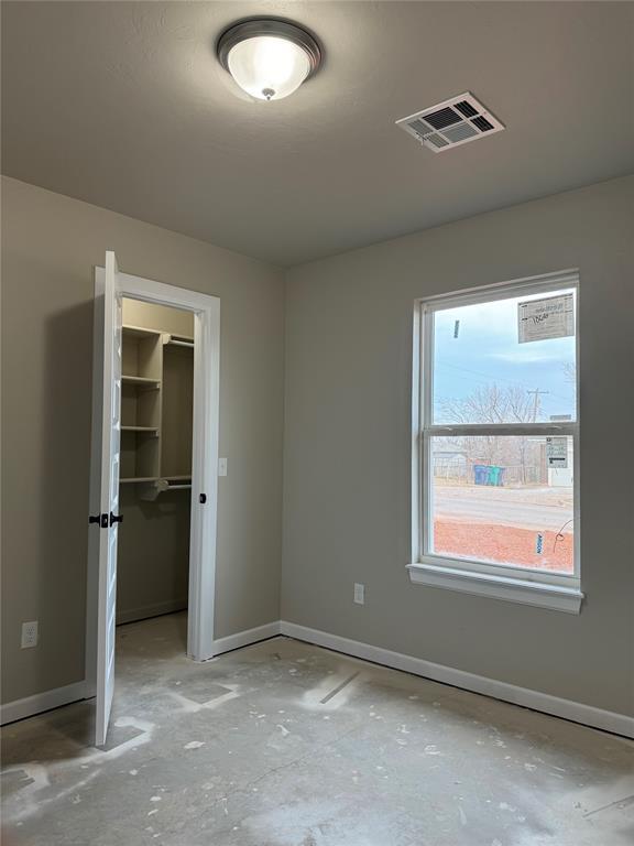
[[[259,100],[288,97],[321,63],[321,48],[309,32],[274,18],[232,24],[220,35],[217,53],[240,88]]]

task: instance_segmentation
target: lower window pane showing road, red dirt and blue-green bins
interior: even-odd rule
[[[430,447],[430,553],[573,573],[571,437],[433,437]]]

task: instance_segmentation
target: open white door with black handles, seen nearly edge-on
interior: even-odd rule
[[[121,436],[121,293],[113,252],[106,253],[102,274],[103,405],[101,413],[101,482],[99,524],[99,599],[97,620],[97,722],[95,744],[103,746],[114,693],[114,622],[117,612],[117,535],[119,532],[119,464]],[[99,280],[99,275],[98,275]],[[99,295],[99,294],[98,294]],[[100,310],[98,310],[100,311]],[[95,520],[97,516],[92,516]]]

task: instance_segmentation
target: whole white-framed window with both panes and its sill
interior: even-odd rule
[[[413,582],[578,612],[578,275],[420,301]]]

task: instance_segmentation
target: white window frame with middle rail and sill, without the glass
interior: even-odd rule
[[[414,308],[412,391],[412,556],[407,565],[413,582],[466,593],[538,605],[578,614],[581,593],[580,549],[580,414],[579,414],[579,271],[567,270],[539,276],[441,294],[417,300]],[[573,289],[576,343],[576,413],[573,421],[556,423],[435,424],[434,412],[434,315],[447,308],[490,303],[523,295],[540,295]],[[555,573],[512,564],[493,564],[429,552],[433,540],[431,455],[435,436],[477,434],[568,436],[572,438],[573,572]]]

